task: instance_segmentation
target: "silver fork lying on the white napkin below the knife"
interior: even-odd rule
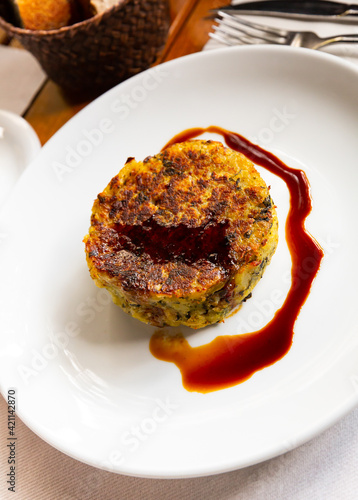
[[[226,45],[237,45],[255,43],[273,43],[278,45],[291,45],[293,47],[307,47],[309,49],[321,49],[333,43],[357,43],[358,34],[335,35],[321,38],[312,31],[289,31],[264,24],[252,23],[246,19],[240,19],[235,15],[219,11],[219,23],[214,26],[214,33],[210,37]]]

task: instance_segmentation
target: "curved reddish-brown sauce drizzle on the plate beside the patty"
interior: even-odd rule
[[[261,330],[243,335],[224,335],[209,344],[191,347],[178,334],[171,337],[157,331],[150,340],[150,351],[158,359],[170,361],[180,369],[188,391],[212,392],[232,387],[250,378],[256,371],[272,365],[290,349],[293,328],[316,276],[323,251],[305,230],[311,211],[309,183],[305,173],[288,167],[273,154],[252,144],[239,134],[211,126],[189,129],[176,135],[165,147],[192,139],[204,132],[222,135],[226,144],[243,153],[285,181],[290,193],[286,221],[286,240],[292,259],[291,287],[274,318]]]

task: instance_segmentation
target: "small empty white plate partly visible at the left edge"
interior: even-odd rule
[[[0,205],[40,148],[39,138],[26,120],[0,110]]]

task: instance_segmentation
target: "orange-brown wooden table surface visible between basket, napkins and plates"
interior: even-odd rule
[[[200,51],[209,39],[213,24],[208,19],[209,10],[223,5],[223,0],[169,0],[172,24],[166,46],[156,64]],[[228,3],[228,2],[227,2]],[[0,30],[0,43],[19,46],[8,40]],[[47,80],[27,110],[24,118],[32,125],[45,144],[72,116],[89,101],[79,101],[66,96],[60,87]]]

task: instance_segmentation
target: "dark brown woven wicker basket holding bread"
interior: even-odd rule
[[[167,0],[119,0],[102,14],[51,31],[0,26],[18,39],[47,75],[71,91],[107,90],[148,68],[169,29]]]

